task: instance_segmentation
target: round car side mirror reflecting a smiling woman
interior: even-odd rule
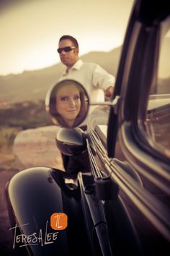
[[[61,127],[77,127],[86,118],[89,97],[79,82],[63,80],[50,88],[45,105],[54,124]]]

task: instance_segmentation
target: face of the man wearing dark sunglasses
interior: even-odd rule
[[[67,46],[73,46],[71,40],[65,39],[61,40],[58,44],[58,48],[64,48]],[[79,59],[79,48],[72,49],[71,51],[61,51],[60,54],[61,62],[66,65],[66,67],[70,68],[75,64],[75,62]]]

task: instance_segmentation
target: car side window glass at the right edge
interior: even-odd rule
[[[158,79],[150,95],[146,129],[153,147],[170,158],[170,17],[161,25]]]

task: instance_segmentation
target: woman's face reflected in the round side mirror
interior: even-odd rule
[[[81,108],[80,93],[73,85],[60,88],[56,94],[56,108],[68,124],[76,119]]]

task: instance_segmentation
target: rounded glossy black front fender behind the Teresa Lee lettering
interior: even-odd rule
[[[13,248],[27,249],[27,255],[79,255],[74,243],[84,244],[86,232],[82,219],[81,193],[69,190],[63,179],[63,171],[36,167],[28,168],[14,175],[6,185],[6,198],[14,233]],[[68,226],[64,230],[54,230],[50,217],[54,213],[65,213]],[[15,228],[17,226],[17,228]],[[21,235],[40,235],[42,239],[24,244],[17,242]],[[58,232],[57,239],[50,239]],[[48,236],[48,234],[51,234]],[[47,241],[47,237],[50,237]],[[46,239],[46,240],[45,240]],[[21,242],[21,241],[20,241]],[[84,246],[85,250],[88,248]],[[89,253],[89,252],[87,252]]]

